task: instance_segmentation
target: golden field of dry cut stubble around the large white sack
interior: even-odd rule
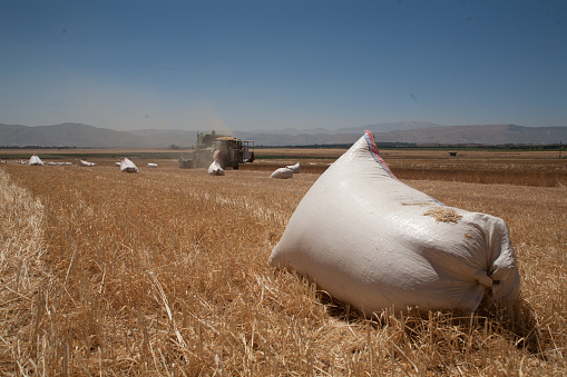
[[[366,319],[267,265],[338,156],[261,158],[224,177],[174,159],[134,160],[139,173],[96,158],[0,165],[0,374],[567,374],[565,160],[384,151],[408,185],[508,222],[521,300]],[[302,173],[268,178],[296,157]]]

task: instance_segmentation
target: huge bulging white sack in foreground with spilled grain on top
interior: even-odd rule
[[[520,278],[500,218],[446,207],[399,181],[372,133],[312,186],[270,257],[366,315],[514,301]]]

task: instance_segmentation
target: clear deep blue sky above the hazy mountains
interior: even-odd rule
[[[0,0],[0,122],[567,126],[567,1]]]

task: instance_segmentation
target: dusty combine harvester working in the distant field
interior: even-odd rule
[[[197,148],[188,156],[179,158],[179,168],[207,168],[212,161],[218,161],[221,169],[238,169],[238,165],[254,161],[254,141],[241,140],[232,136],[197,133]]]

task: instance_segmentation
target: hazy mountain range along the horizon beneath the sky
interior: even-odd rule
[[[377,142],[417,145],[542,145],[567,141],[567,126],[440,126],[422,121],[366,125],[334,130],[289,128],[270,131],[233,131],[232,133],[239,139],[254,140],[255,146],[282,147],[352,143],[363,135],[364,130],[372,131]],[[194,146],[196,139],[196,130],[116,131],[81,123],[53,126],[0,123],[0,147],[168,148],[178,146],[185,148]]]

